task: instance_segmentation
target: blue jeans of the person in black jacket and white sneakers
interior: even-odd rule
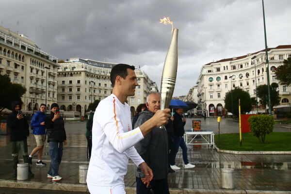
[[[50,166],[48,174],[52,177],[59,175],[59,166],[63,156],[63,142],[49,142]]]

